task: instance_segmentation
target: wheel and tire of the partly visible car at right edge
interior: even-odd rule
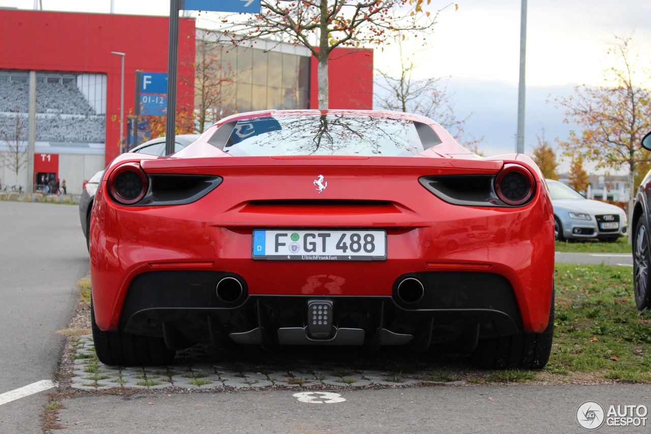
[[[635,305],[639,310],[651,307],[651,282],[649,281],[649,252],[648,223],[644,216],[640,217],[633,233],[633,292]]]

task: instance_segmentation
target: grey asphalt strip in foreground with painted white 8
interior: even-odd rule
[[[65,403],[61,422],[68,428],[61,434],[585,433],[576,416],[585,401],[605,412],[610,405],[651,403],[651,384],[330,390],[339,396],[316,392],[303,401],[297,392],[82,396]],[[651,421],[645,422],[597,432],[648,433]]]

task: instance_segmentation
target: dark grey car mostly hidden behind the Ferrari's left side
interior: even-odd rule
[[[180,134],[176,136],[174,152],[180,151],[198,138],[199,134]],[[129,152],[163,156],[165,155],[165,137],[157,137],[156,139],[146,141]],[[81,197],[79,198],[79,221],[81,222],[81,230],[86,236],[87,247],[89,247],[90,211],[92,210],[92,202],[95,199],[95,192],[100,181],[102,181],[102,175],[104,175],[104,170],[100,170],[95,175],[92,175],[92,178],[84,184]]]

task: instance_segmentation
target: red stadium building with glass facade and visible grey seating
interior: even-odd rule
[[[70,194],[120,152],[121,57],[124,53],[124,131],[136,111],[137,71],[167,72],[169,18],[0,9],[0,152],[10,141],[27,148],[29,76],[36,76],[34,185],[66,179]],[[179,20],[177,106],[195,102],[197,35],[193,18]],[[268,52],[266,52],[268,50]],[[372,108],[372,50],[335,50],[329,66],[331,108]],[[342,57],[342,54],[346,54]],[[237,48],[233,106],[317,108],[316,59],[290,44]],[[182,80],[183,78],[183,80]],[[223,113],[228,114],[228,113]],[[4,134],[3,134],[4,133]],[[4,136],[4,137],[3,137]],[[27,169],[0,167],[3,184],[25,188]]]

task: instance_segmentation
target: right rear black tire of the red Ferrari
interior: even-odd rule
[[[542,333],[525,333],[479,340],[471,354],[482,369],[542,369],[549,361],[554,335],[554,295],[551,295],[549,323]]]

